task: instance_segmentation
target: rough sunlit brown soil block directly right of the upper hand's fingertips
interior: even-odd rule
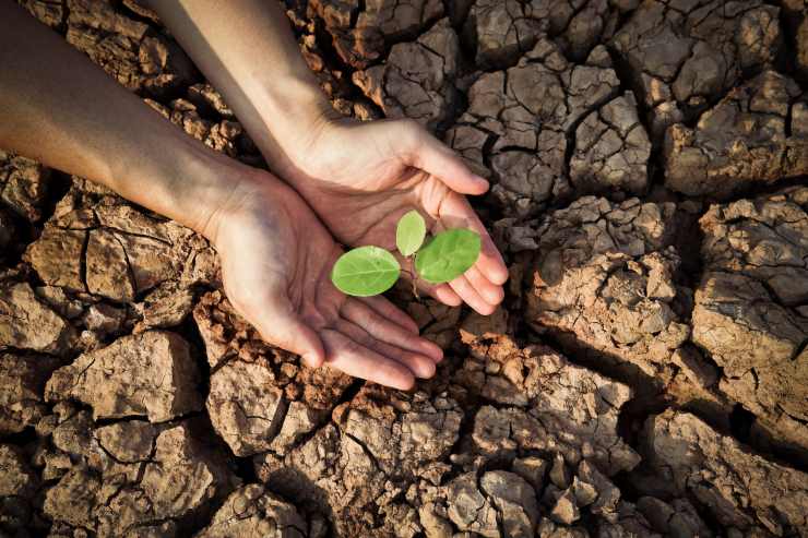
[[[605,362],[633,364],[638,379],[668,383],[690,333],[677,313],[686,292],[675,282],[675,212],[673,203],[586,196],[548,213],[535,230],[528,323]]]

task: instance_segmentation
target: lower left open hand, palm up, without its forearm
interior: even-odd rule
[[[382,297],[346,297],[330,273],[342,253],[309,206],[272,175],[248,169],[206,227],[234,308],[270,344],[407,390],[431,378],[441,349]]]

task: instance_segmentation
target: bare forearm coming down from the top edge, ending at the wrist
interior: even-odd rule
[[[289,154],[333,118],[275,0],[147,2],[283,175]]]

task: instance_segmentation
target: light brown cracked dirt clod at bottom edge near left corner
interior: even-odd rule
[[[192,432],[187,422],[159,429],[119,422],[114,432],[80,429],[76,433],[86,441],[72,457],[84,465],[47,489],[45,514],[56,528],[66,530],[181,536],[236,483],[221,456],[203,447]],[[131,439],[138,437],[145,444],[132,446]],[[116,457],[144,454],[134,463]]]

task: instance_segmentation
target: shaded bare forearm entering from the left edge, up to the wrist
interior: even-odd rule
[[[0,147],[204,232],[231,186],[187,136],[12,2],[0,2]]]

